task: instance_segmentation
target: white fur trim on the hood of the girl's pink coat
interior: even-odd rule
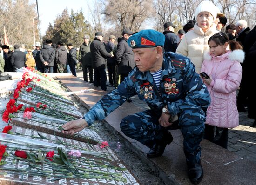
[[[235,61],[238,61],[240,63],[243,63],[245,53],[241,49],[236,49],[234,51],[228,51],[227,50],[227,53],[225,53],[221,56],[217,56],[217,57],[211,56],[209,51],[207,51],[203,54],[203,58],[206,59],[206,60],[212,60],[213,58],[215,58],[215,59],[224,59],[226,57],[228,59],[230,59],[231,61],[235,60]]]

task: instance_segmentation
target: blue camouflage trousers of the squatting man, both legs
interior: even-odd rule
[[[138,112],[122,119],[121,131],[151,148],[156,140],[162,139],[163,132],[171,127],[162,127],[158,119],[162,112],[152,110]],[[205,113],[202,109],[186,109],[179,113],[178,125],[183,135],[183,150],[187,163],[195,164],[201,158],[200,142],[204,133]]]

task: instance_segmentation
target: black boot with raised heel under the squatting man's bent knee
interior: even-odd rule
[[[164,152],[164,149],[167,144],[170,144],[173,141],[172,134],[168,131],[163,133],[162,139],[157,140],[155,145],[149,150],[147,157],[155,158],[161,156]]]

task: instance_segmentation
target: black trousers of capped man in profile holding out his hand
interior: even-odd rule
[[[103,91],[107,91],[107,74],[105,68],[94,68],[94,86],[101,86]]]

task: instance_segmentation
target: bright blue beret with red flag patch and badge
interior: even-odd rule
[[[155,30],[141,30],[138,33],[130,36],[127,40],[131,48],[146,48],[164,46],[164,34]]]

